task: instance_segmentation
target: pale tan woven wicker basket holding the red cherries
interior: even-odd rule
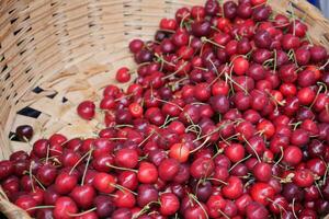
[[[292,4],[290,4],[292,2]],[[27,143],[10,141],[19,125],[35,135],[94,135],[97,118],[76,115],[82,100],[98,100],[113,71],[133,67],[132,38],[151,39],[161,18],[204,0],[2,0],[0,1],[0,159]],[[329,48],[329,22],[305,0],[270,0],[275,12],[293,13],[309,25],[310,37]],[[0,210],[29,218],[0,193]]]

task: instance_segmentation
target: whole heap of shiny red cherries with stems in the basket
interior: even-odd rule
[[[307,25],[265,0],[207,0],[134,39],[92,138],[55,134],[0,162],[35,218],[316,219],[329,214],[329,61]],[[132,77],[135,74],[134,77]],[[29,141],[30,126],[16,136]]]

